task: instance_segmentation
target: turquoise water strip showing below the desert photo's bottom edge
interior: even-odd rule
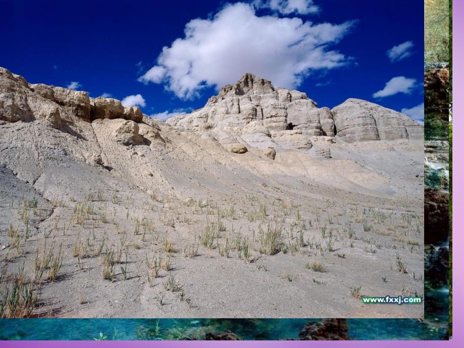
[[[425,299],[426,320],[349,319],[352,339],[446,339],[448,292]],[[243,339],[297,338],[306,322],[319,319],[0,319],[0,339],[87,340],[200,338],[230,330]],[[101,337],[100,337],[101,332]]]

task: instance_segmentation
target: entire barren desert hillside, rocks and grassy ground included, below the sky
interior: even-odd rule
[[[399,113],[374,138],[364,111],[342,137],[340,106],[324,111],[332,131],[319,115],[289,129],[306,94],[273,101],[278,115],[266,98],[281,89],[226,86],[215,98],[228,105],[261,98],[247,133],[244,108],[218,118],[216,100],[207,126],[198,110],[165,123],[1,77],[3,317],[423,316],[422,304],[361,301],[424,294],[422,128],[409,124],[413,137]]]

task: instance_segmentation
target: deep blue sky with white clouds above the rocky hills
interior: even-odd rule
[[[3,0],[0,66],[165,118],[244,73],[319,106],[361,98],[423,119],[422,0]],[[163,47],[165,47],[163,49]]]

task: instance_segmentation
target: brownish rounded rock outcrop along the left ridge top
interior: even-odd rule
[[[53,128],[74,123],[76,118],[91,122],[97,119],[124,119],[142,122],[138,107],[124,107],[112,98],[89,98],[87,92],[29,84],[4,68],[0,68],[0,121],[42,120]]]

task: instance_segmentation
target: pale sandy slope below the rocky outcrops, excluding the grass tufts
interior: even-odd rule
[[[20,253],[12,246],[2,251],[3,262],[8,264],[9,272],[25,262],[32,275],[36,250],[43,250],[43,231],[51,231],[47,248],[54,245],[57,249],[63,244],[60,276],[56,281],[42,283],[42,305],[37,312],[62,317],[422,315],[422,306],[368,306],[350,295],[350,288],[356,286],[362,286],[364,295],[423,293],[422,281],[417,280],[423,274],[420,145],[395,144],[395,150],[389,146],[380,150],[363,146],[358,151],[340,146],[339,152],[332,151],[340,158],[327,161],[302,152],[283,151],[272,161],[254,151],[229,153],[217,144],[165,125],[161,125],[165,143],[126,147],[110,138],[113,128],[121,122],[92,123],[92,129],[82,129],[86,140],[39,122],[0,128],[2,162],[7,163],[0,176],[5,191],[0,210],[2,244],[12,245],[5,235],[10,224],[23,233],[23,200],[37,197],[40,214],[45,218],[40,222],[36,218],[39,213],[30,212],[29,223],[35,227],[31,237],[22,243]],[[101,151],[105,165],[112,170],[86,163],[92,151]],[[401,166],[393,169],[392,163]],[[412,175],[415,172],[418,178]],[[94,214],[86,216],[84,227],[74,225],[73,207],[87,202],[89,192],[100,192],[102,200],[93,199]],[[204,207],[188,206],[187,197],[206,201]],[[267,216],[262,222],[250,222],[247,214],[263,204]],[[235,250],[230,251],[229,258],[221,257],[216,247],[208,250],[200,246],[198,256],[183,257],[184,246],[197,244],[206,220],[216,219],[216,206],[221,211],[231,206],[235,209],[234,216],[221,217],[225,231],[217,243],[224,244],[228,236],[231,244],[233,236],[241,233],[250,242],[250,263],[239,259]],[[365,210],[374,207],[376,210],[371,212]],[[50,209],[54,210],[48,216]],[[377,223],[374,212],[379,209],[391,217]],[[281,216],[285,219],[282,239],[295,242],[297,232],[291,224],[297,211],[301,220],[307,221],[304,240],[312,245],[293,254],[287,251],[261,255],[259,225],[272,225],[272,218]],[[405,223],[407,218],[402,216],[414,217]],[[141,235],[133,235],[137,217],[153,221],[145,242]],[[363,220],[374,226],[372,231],[364,231]],[[419,230],[413,230],[414,224]],[[321,235],[324,227],[325,238]],[[350,228],[356,234],[352,241],[347,236]],[[291,230],[293,239],[287,236]],[[324,247],[330,230],[335,251],[317,250],[314,244]],[[127,280],[121,271],[125,251],[122,263],[114,266],[112,282],[102,277],[101,255],[81,259],[80,266],[78,258],[72,256],[73,247],[87,239],[92,245],[89,249],[96,249],[104,238],[106,247],[119,250],[124,234]],[[150,286],[145,258],[167,257],[168,253],[162,251],[165,236],[177,249],[170,257],[172,269],[160,270],[160,276]],[[408,244],[409,239],[412,244]],[[396,252],[408,273],[395,270]],[[314,260],[322,262],[327,271],[314,272],[305,267]],[[180,301],[178,293],[166,291],[163,283],[169,274],[183,285],[191,305]],[[79,304],[79,297],[84,304]]]

